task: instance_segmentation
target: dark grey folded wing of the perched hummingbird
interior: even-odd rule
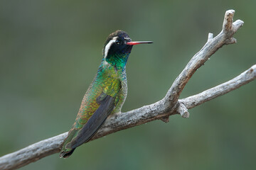
[[[102,96],[104,97],[102,98]],[[110,115],[114,108],[115,97],[102,93],[98,99],[100,99],[97,100],[97,102],[100,103],[99,108],[97,108],[92,117],[78,132],[78,135],[70,143],[68,143],[66,147],[75,149],[75,147],[88,142]]]

